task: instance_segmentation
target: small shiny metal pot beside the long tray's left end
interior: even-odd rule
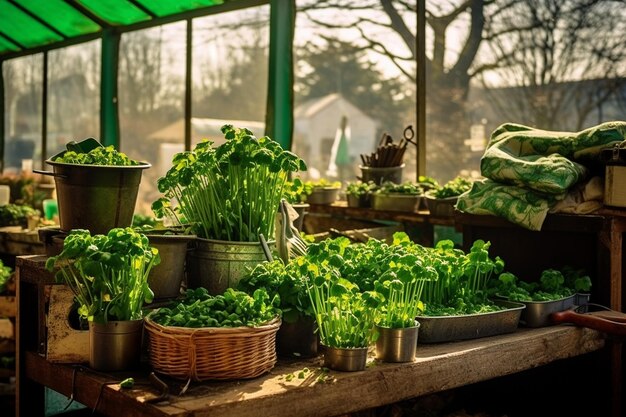
[[[417,321],[413,327],[400,329],[376,326],[376,358],[383,362],[413,362],[419,327]]]

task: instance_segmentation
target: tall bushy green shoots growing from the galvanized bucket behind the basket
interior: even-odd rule
[[[193,151],[174,155],[157,181],[164,199],[176,200],[182,216],[201,238],[258,242],[274,237],[274,218],[292,172],[306,170],[295,154],[267,136],[222,126],[226,142],[204,140]],[[163,206],[153,203],[153,210]]]

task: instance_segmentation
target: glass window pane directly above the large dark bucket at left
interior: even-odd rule
[[[48,53],[46,157],[71,140],[100,135],[100,41]]]

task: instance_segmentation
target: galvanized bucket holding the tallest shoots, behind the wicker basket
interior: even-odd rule
[[[275,241],[268,242],[270,248]],[[209,294],[222,294],[235,288],[247,268],[265,261],[260,242],[230,242],[197,238],[195,248],[187,255],[189,288],[204,287]]]

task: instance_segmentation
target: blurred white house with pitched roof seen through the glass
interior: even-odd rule
[[[370,154],[376,149],[376,121],[343,96],[334,93],[307,100],[294,109],[292,149],[306,161],[309,177],[326,176],[342,116],[348,118],[351,133],[349,155],[355,169],[361,163],[361,154]]]

